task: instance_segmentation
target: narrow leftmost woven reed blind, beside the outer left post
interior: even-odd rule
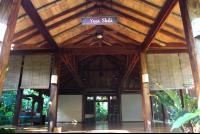
[[[22,56],[11,56],[8,60],[8,71],[6,72],[3,91],[18,90]]]

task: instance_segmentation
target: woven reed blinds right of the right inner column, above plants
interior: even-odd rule
[[[188,54],[148,54],[150,90],[162,84],[168,89],[184,89],[184,84],[194,84]]]

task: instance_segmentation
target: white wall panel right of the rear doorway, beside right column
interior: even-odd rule
[[[122,94],[122,121],[143,121],[141,94]]]

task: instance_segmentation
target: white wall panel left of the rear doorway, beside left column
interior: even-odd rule
[[[71,122],[73,119],[82,122],[82,95],[58,96],[58,122]]]

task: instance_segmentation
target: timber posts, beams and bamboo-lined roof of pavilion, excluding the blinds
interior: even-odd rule
[[[1,0],[1,7],[6,8],[3,5],[5,1]],[[46,0],[42,3],[39,0],[13,0],[12,7],[7,8],[10,14],[4,14],[0,8],[0,18],[6,19],[7,16],[8,26],[3,41],[5,51],[0,55],[4,65],[0,96],[9,55],[52,55],[51,75],[57,75],[58,81],[57,84],[50,83],[50,90],[41,92],[51,97],[49,131],[52,131],[51,121],[56,126],[58,95],[81,94],[85,100],[87,91],[116,91],[117,96],[123,91],[141,93],[144,129],[148,131],[152,130],[152,126],[147,125],[152,120],[151,104],[150,98],[145,95],[149,93],[148,84],[142,81],[142,75],[148,74],[146,55],[172,53],[189,53],[199,95],[200,73],[196,73],[199,72],[199,61],[191,36],[186,0],[158,3],[148,0],[72,1]],[[101,5],[100,10],[98,5]],[[101,32],[115,30],[117,33],[107,35],[111,40],[102,40],[102,46],[98,42],[91,45],[94,36],[83,34],[95,33],[96,26],[82,26],[82,15],[111,13],[117,14],[118,24],[102,25],[100,29]],[[11,44],[15,45],[12,50]],[[21,96],[19,92],[16,103],[19,106],[16,108],[21,107]],[[119,109],[120,101],[119,97]],[[121,121],[120,111],[119,114]],[[15,116],[14,125],[18,122],[18,111],[15,111]]]

